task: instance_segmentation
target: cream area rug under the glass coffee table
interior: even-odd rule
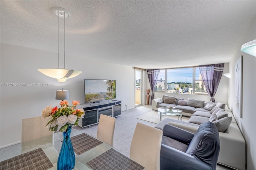
[[[170,119],[176,119],[178,120],[178,116],[162,116],[162,120],[165,118],[170,118]],[[182,117],[182,121],[188,121],[190,117]],[[151,123],[158,123],[160,122],[160,115],[158,114],[157,111],[150,111],[145,115],[141,115],[137,117],[137,119],[141,119],[143,121],[151,122]]]

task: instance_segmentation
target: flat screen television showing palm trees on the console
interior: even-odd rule
[[[116,98],[116,80],[84,79],[84,103]]]

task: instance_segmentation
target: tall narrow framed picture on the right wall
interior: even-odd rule
[[[243,82],[243,55],[236,60],[235,65],[235,104],[236,111],[242,118],[242,82]]]

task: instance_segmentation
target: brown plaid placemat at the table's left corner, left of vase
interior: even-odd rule
[[[53,165],[42,148],[1,162],[1,170],[48,170]]]

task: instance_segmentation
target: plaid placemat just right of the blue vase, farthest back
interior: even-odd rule
[[[98,146],[99,144],[102,144],[100,140],[85,133],[71,137],[71,142],[74,152],[76,152],[78,155],[90,150],[91,148],[94,148],[95,146]]]

